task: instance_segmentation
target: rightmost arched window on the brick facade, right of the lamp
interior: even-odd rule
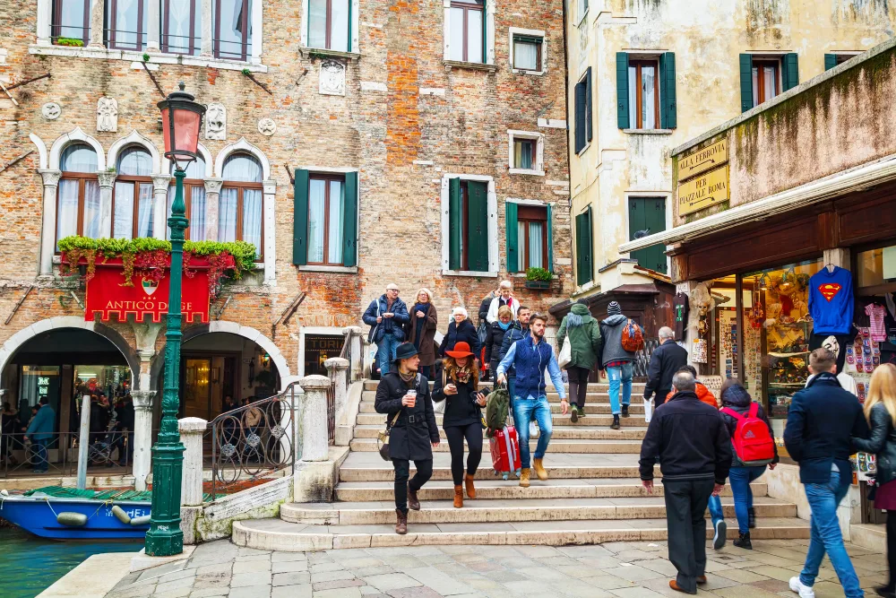
[[[262,257],[262,164],[253,155],[235,153],[224,160],[218,210],[218,240],[246,241]]]

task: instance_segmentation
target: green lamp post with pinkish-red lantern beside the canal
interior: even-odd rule
[[[152,509],[150,530],[146,533],[146,554],[168,557],[184,551],[184,533],[180,531],[180,480],[184,468],[184,445],[177,430],[180,404],[180,281],[184,271],[185,217],[184,166],[197,157],[199,131],[205,107],[184,91],[168,95],[159,102],[165,157],[175,165],[174,203],[171,204],[171,270],[168,292],[168,319],[165,329],[165,385],[162,390],[162,421],[159,438],[152,447]]]

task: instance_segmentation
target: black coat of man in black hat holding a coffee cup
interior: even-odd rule
[[[435,426],[432,395],[429,394],[429,381],[426,377],[418,377],[418,383],[408,386],[398,375],[389,372],[376,386],[374,408],[377,413],[386,413],[388,421],[395,414],[401,416],[392,427],[389,437],[389,456],[392,459],[409,459],[426,461],[433,458],[431,443],[439,442],[439,429]],[[412,387],[417,387],[417,403],[413,409],[401,405],[401,397]]]

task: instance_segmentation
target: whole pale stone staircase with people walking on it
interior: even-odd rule
[[[550,387],[548,385],[548,387]],[[265,550],[330,550],[422,544],[584,544],[661,541],[667,537],[662,484],[649,495],[641,486],[638,454],[647,430],[640,399],[633,389],[632,417],[622,429],[612,421],[606,384],[590,384],[587,416],[576,423],[560,413],[556,393],[548,400],[554,434],[545,457],[547,481],[534,476],[530,488],[500,479],[491,469],[487,442],[477,473],[476,500],[452,506],[451,457],[447,442],[435,451],[432,479],[419,493],[422,510],[409,513],[407,535],[394,533],[392,464],[376,452],[376,434],[384,416],[374,410],[375,382],[366,382],[351,452],[340,467],[336,501],[293,503],[280,507],[280,518],[239,521],[233,542]],[[440,431],[442,417],[436,416]],[[442,432],[444,439],[444,432]],[[536,441],[532,441],[534,451]],[[413,475],[413,469],[411,470]],[[808,538],[797,506],[768,496],[762,478],[753,484],[757,526],[754,539]],[[729,487],[722,495],[728,536],[737,537]],[[708,530],[711,535],[710,530]]]

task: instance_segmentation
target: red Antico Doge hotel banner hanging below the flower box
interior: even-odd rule
[[[197,264],[197,262],[202,264]],[[196,316],[202,322],[209,321],[209,265],[205,260],[191,260],[192,277],[181,277],[181,311],[185,322],[193,322]],[[96,273],[87,282],[87,308],[84,319],[93,321],[99,314],[103,322],[113,314],[124,322],[128,314],[134,314],[142,322],[151,316],[153,322],[161,322],[168,314],[168,287],[171,277],[168,269],[160,281],[154,281],[134,268],[133,286],[125,286],[125,270],[120,259],[110,259],[96,264]]]

